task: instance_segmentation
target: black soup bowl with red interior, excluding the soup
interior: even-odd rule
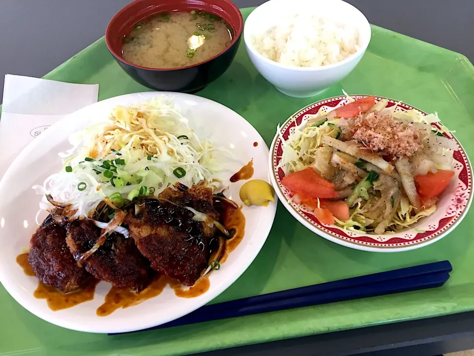
[[[220,16],[233,32],[232,42],[217,55],[193,65],[178,68],[148,68],[122,57],[123,38],[129,36],[139,21],[161,12],[205,11]],[[118,65],[136,82],[150,89],[195,93],[219,78],[237,53],[243,30],[242,14],[230,0],[135,0],[112,18],[105,41]]]

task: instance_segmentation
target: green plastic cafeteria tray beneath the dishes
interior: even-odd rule
[[[243,9],[246,17],[252,9]],[[44,78],[100,84],[99,100],[148,91],[109,54],[104,39]],[[474,67],[461,54],[372,27],[372,41],[340,84],[306,99],[284,96],[252,66],[242,43],[230,69],[198,95],[247,119],[270,144],[277,123],[320,99],[376,94],[437,111],[469,155],[474,154]],[[232,134],[232,132],[229,132]],[[24,310],[0,287],[0,355],[187,355],[368,325],[474,310],[474,210],[449,236],[419,250],[378,254],[352,250],[311,233],[278,206],[275,224],[255,262],[214,302],[449,260],[453,272],[438,289],[240,317],[198,325],[107,336],[62,329]]]

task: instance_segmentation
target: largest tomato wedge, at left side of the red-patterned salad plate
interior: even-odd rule
[[[303,171],[290,173],[281,179],[283,184],[293,194],[308,198],[336,198],[334,184],[321,178],[316,171],[308,167]]]

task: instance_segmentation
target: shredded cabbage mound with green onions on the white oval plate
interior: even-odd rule
[[[74,134],[70,142],[73,148],[60,154],[63,169],[33,188],[43,195],[40,209],[51,207],[45,198],[50,194],[77,210],[73,218],[87,217],[106,197],[126,199],[132,191],[158,196],[177,182],[218,188],[213,175],[227,152],[200,140],[165,95],[117,106],[107,120]]]

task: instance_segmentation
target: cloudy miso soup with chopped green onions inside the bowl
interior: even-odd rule
[[[143,67],[185,67],[222,52],[233,36],[223,19],[208,12],[160,13],[135,25],[123,40],[122,56]]]

